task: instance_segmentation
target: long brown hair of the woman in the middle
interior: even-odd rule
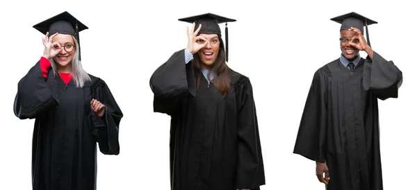
[[[226,64],[226,53],[224,51],[224,43],[223,40],[220,38],[220,49],[217,58],[215,59],[215,62],[213,63],[213,67],[208,71],[208,78],[211,78],[211,75],[214,75],[213,83],[214,87],[217,88],[222,94],[223,97],[227,96],[227,92],[230,88],[230,77],[231,77],[231,71],[230,68]],[[199,87],[199,80],[202,76],[202,67],[201,67],[202,61],[199,58],[198,53],[194,54],[193,59],[193,67],[194,67],[194,76],[195,76],[195,85],[198,89]]]

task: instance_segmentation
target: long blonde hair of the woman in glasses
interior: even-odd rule
[[[86,81],[91,81],[90,76],[87,72],[84,71],[83,66],[81,64],[81,61],[79,60],[79,44],[76,41],[74,36],[71,36],[72,40],[74,40],[75,44],[75,55],[74,58],[72,58],[71,67],[72,67],[72,79],[74,79],[74,82],[76,84],[76,87],[84,87],[84,83]],[[51,62],[52,70],[54,71],[54,76],[58,74],[58,67],[56,66],[56,63],[54,62],[54,59],[49,60]]]

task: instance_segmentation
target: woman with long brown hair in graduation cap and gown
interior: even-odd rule
[[[171,189],[259,189],[265,175],[252,85],[227,66],[218,26],[236,20],[211,13],[179,20],[193,23],[188,46],[150,78],[154,112],[171,116]]]

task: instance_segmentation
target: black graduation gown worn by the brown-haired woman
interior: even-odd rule
[[[265,184],[250,80],[232,71],[222,94],[177,51],[150,78],[154,112],[171,116],[172,190],[259,189]]]

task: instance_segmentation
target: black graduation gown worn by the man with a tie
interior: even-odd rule
[[[351,72],[339,60],[316,71],[295,154],[327,163],[329,190],[382,190],[377,99],[398,98],[402,72],[374,52]]]

